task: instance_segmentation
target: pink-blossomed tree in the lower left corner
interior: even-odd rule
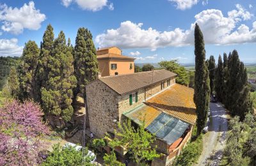
[[[13,100],[0,108],[0,165],[36,165],[41,136],[49,133],[34,102]]]

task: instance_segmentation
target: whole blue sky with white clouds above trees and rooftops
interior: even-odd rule
[[[0,0],[0,56],[21,56],[28,40],[40,46],[51,24],[72,45],[86,27],[96,48],[119,47],[135,63],[195,63],[196,22],[207,58],[236,49],[256,63],[255,0]]]

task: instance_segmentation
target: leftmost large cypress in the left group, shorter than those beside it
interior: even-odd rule
[[[19,82],[20,82],[20,98],[22,100],[33,98],[33,87],[35,84],[35,69],[39,56],[39,49],[35,41],[29,40],[25,43],[20,64],[18,66]]]

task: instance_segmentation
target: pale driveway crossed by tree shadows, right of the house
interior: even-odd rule
[[[205,133],[202,155],[196,165],[219,165],[225,146],[227,115],[220,103],[210,103],[209,132]]]

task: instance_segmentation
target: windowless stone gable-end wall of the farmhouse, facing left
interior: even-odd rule
[[[118,117],[118,94],[100,80],[86,86],[88,117],[90,130],[97,137],[104,137],[106,132],[114,132]]]

